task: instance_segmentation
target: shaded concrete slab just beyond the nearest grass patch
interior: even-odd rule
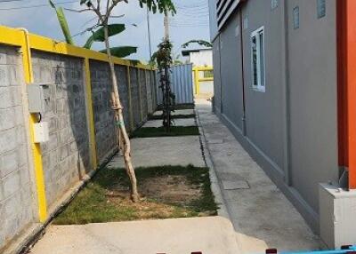
[[[198,136],[131,139],[131,146],[134,167],[206,165]],[[124,167],[123,157],[115,155],[108,167]]]

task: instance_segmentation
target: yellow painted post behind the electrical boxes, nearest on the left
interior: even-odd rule
[[[22,65],[24,69],[25,82],[27,84],[33,83],[33,71],[31,61],[31,49],[30,42],[28,40],[28,31],[23,29],[23,41],[21,44],[22,52]],[[38,200],[38,218],[40,222],[44,222],[47,218],[47,204],[45,200],[45,187],[44,187],[44,169],[42,163],[41,147],[38,143],[35,143],[34,139],[34,124],[37,123],[36,115],[29,116],[29,136],[32,147],[32,156],[35,169],[36,178],[36,192]]]

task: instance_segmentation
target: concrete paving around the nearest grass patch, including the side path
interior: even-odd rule
[[[222,217],[49,226],[31,253],[264,253],[317,250],[319,238],[301,215],[239,145],[231,132],[199,100],[198,125],[205,155],[214,165],[215,196],[226,205],[231,221]],[[134,166],[193,163],[204,166],[199,137],[133,139]],[[207,147],[207,149],[206,149]],[[116,156],[110,167],[122,167]],[[216,185],[220,184],[220,187]],[[218,191],[216,191],[216,189]],[[219,202],[219,201],[218,201]],[[232,222],[232,224],[231,224]]]

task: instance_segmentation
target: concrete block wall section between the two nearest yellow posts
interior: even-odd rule
[[[47,205],[90,171],[83,60],[32,52],[34,83],[49,85],[43,117],[50,140],[41,144]]]

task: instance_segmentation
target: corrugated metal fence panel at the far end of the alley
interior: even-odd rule
[[[175,94],[176,104],[194,103],[192,71],[192,64],[178,65],[171,68],[171,88]],[[156,75],[159,83],[158,71],[156,72]],[[162,91],[159,89],[159,84],[157,87],[157,102],[158,105],[161,105]]]

